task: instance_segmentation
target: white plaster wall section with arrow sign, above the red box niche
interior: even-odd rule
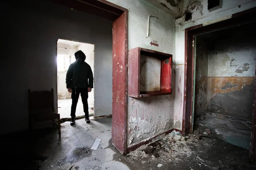
[[[111,3],[129,10],[128,14],[128,48],[142,47],[168,54],[174,54],[175,50],[175,20],[169,14],[146,3],[144,0],[108,0]],[[150,31],[147,37],[148,15],[150,18]],[[156,40],[159,47],[150,45]]]

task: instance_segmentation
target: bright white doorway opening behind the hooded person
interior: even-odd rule
[[[70,118],[71,111],[71,93],[66,88],[67,70],[71,63],[76,62],[75,52],[83,51],[85,62],[90,65],[94,75],[95,47],[93,44],[75,42],[59,39],[57,41],[57,86],[58,86],[58,113],[63,118]],[[88,93],[89,116],[94,116],[94,88]],[[76,118],[84,117],[83,104],[81,96],[76,107]]]

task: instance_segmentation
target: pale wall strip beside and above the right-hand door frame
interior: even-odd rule
[[[190,3],[189,3],[190,2]],[[188,4],[189,3],[189,4]],[[197,26],[199,24],[204,24],[217,20],[237,12],[241,12],[256,6],[256,1],[251,0],[223,0],[222,8],[219,8],[215,11],[208,11],[207,9],[207,0],[184,0],[183,7],[188,6],[187,12],[192,14],[192,18],[185,21],[186,15],[183,8],[183,16],[176,20],[176,34],[175,34],[175,58],[174,64],[176,64],[175,74],[180,75],[180,78],[184,80],[184,65],[185,63],[185,29]],[[178,67],[177,67],[178,65]],[[181,72],[180,72],[181,71]],[[180,73],[179,73],[180,72]],[[234,74],[236,75],[236,74]],[[178,78],[179,79],[179,78]],[[182,81],[183,81],[182,80]],[[183,121],[183,105],[184,102],[184,84],[175,83],[175,93],[177,94],[180,91],[180,95],[175,96],[175,113],[174,113],[174,123]],[[177,88],[178,86],[178,88]],[[182,124],[181,124],[182,125]],[[181,125],[176,126],[176,128],[181,130]]]

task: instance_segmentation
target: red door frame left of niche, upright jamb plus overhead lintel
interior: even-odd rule
[[[113,21],[112,144],[127,154],[128,9],[107,0],[49,0]],[[118,100],[117,100],[118,99]]]

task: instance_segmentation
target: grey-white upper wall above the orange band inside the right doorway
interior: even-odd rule
[[[209,50],[208,77],[255,76],[256,41],[251,34],[254,28],[247,28],[246,31],[239,28],[217,31],[225,37],[215,36],[218,39],[213,40],[214,49]]]

